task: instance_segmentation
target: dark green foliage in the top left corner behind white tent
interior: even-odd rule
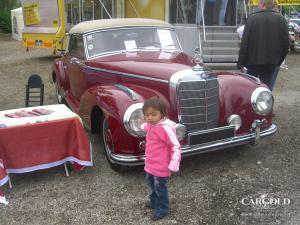
[[[11,33],[10,10],[20,5],[18,0],[0,0],[0,31]]]

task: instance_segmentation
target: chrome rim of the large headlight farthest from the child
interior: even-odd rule
[[[268,94],[269,96],[269,100],[271,102],[270,105],[266,105],[265,109],[262,109],[262,105],[258,102],[258,99],[260,97],[263,97],[262,94]],[[267,103],[268,101],[265,101],[264,103]],[[273,110],[273,105],[274,105],[274,97],[272,95],[272,92],[268,89],[268,88],[265,88],[265,87],[259,87],[259,88],[256,88],[252,95],[251,95],[251,104],[252,104],[252,108],[253,110],[258,114],[258,115],[261,115],[261,116],[266,116],[268,115],[269,113],[272,112]]]

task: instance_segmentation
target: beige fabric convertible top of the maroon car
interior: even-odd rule
[[[142,19],[142,18],[122,18],[122,19],[103,19],[89,20],[81,22],[71,28],[70,34],[88,33],[94,30],[114,28],[114,27],[132,27],[132,26],[160,26],[172,27],[169,23],[161,20]]]

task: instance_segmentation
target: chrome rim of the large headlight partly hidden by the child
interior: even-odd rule
[[[123,123],[127,132],[134,137],[145,137],[146,133],[142,129],[136,129],[132,127],[132,117],[134,114],[140,114],[139,118],[141,121],[143,120],[143,103],[135,103],[127,108],[124,114]]]

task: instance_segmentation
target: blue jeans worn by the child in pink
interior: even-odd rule
[[[169,212],[168,177],[156,177],[146,172],[147,184],[151,190],[150,207],[155,209],[155,216],[164,216]]]

